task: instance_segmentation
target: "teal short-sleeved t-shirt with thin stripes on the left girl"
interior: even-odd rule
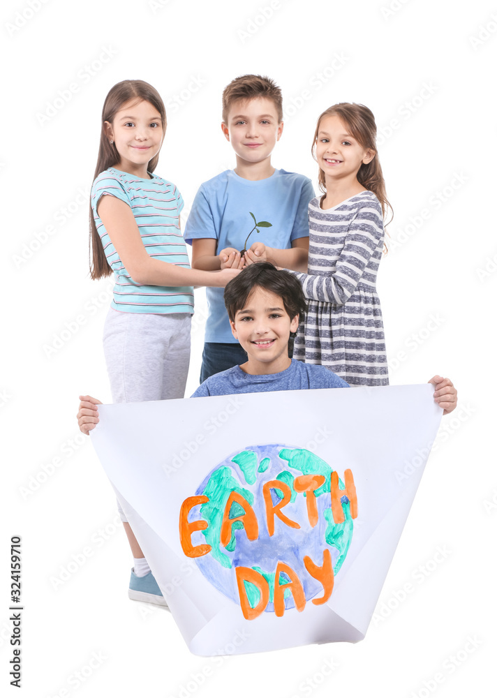
[[[91,209],[105,256],[114,272],[111,307],[126,313],[193,313],[191,286],[153,286],[131,279],[96,210],[105,194],[131,207],[142,242],[151,257],[186,269],[190,269],[190,261],[179,228],[184,202],[176,186],[156,174],[151,174],[151,179],[142,179],[115,168],[101,172],[91,188]]]

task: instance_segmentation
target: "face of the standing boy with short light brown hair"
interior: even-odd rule
[[[271,153],[283,131],[276,105],[266,97],[233,102],[226,122],[221,124],[242,163],[262,163]]]

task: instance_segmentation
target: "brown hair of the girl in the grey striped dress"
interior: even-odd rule
[[[359,172],[357,172],[357,181],[359,184],[362,184],[364,188],[376,194],[381,205],[383,218],[385,218],[387,210],[390,210],[391,217],[388,222],[391,223],[394,217],[394,211],[387,199],[385,180],[383,179],[383,172],[381,171],[381,165],[378,159],[378,150],[376,149],[376,123],[373,112],[371,112],[368,107],[365,107],[363,104],[340,102],[339,104],[334,104],[332,107],[328,107],[327,110],[322,112],[316,124],[316,132],[314,133],[312,143],[311,151],[313,158],[317,161],[316,143],[318,142],[320,121],[325,117],[334,115],[343,121],[343,124],[345,124],[350,131],[350,135],[352,135],[363,148],[375,151],[375,156],[371,162],[367,165],[363,163],[360,166]],[[319,169],[318,184],[320,190],[326,193],[325,172],[323,172],[321,168]]]

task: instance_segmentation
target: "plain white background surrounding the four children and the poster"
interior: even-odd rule
[[[21,535],[29,698],[489,695],[496,650],[497,6],[461,6],[3,5],[0,424],[8,525],[0,547],[0,682],[10,692],[8,541]],[[78,394],[110,401],[101,349],[110,287],[88,278],[81,192],[93,179],[107,91],[126,78],[147,80],[168,111],[156,172],[179,187],[186,220],[200,183],[234,166],[219,128],[221,92],[244,73],[269,75],[283,89],[285,128],[274,165],[315,182],[310,148],[320,112],[339,101],[373,110],[395,211],[378,280],[391,383],[450,376],[459,407],[443,420],[366,639],[214,662],[188,653],[168,614],[127,600],[131,558],[112,491],[77,432]],[[205,304],[196,293],[187,394],[198,385],[203,340]],[[75,571],[64,575],[68,565]],[[450,657],[458,652],[456,666]]]

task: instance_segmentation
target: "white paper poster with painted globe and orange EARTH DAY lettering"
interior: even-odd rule
[[[364,638],[440,424],[433,385],[99,411],[94,447],[191,652]]]

